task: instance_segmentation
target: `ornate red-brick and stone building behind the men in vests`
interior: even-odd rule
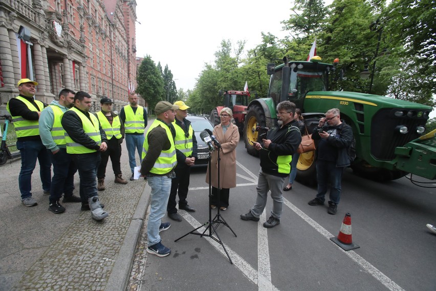
[[[135,22],[135,0],[2,0],[0,113],[25,77],[43,102],[69,88],[90,93],[93,111],[103,95],[119,111],[137,87]]]

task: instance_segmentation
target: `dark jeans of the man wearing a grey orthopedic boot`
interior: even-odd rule
[[[97,168],[100,164],[100,152],[89,154],[72,154],[80,177],[80,198],[82,203],[88,204],[88,199],[98,196],[97,193]]]

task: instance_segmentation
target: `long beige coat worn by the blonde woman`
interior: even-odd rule
[[[212,168],[212,186],[215,188],[235,188],[236,187],[236,146],[239,142],[239,131],[237,126],[230,122],[230,126],[223,133],[223,127],[218,124],[213,129],[213,135],[221,143],[220,152],[220,184],[218,187],[218,153],[217,151],[212,152],[212,157],[210,160]],[[209,183],[209,167],[206,173],[206,183]]]

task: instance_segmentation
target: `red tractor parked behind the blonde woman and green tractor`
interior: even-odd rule
[[[217,106],[210,113],[209,120],[212,122],[213,126],[217,126],[220,120],[220,111],[224,107],[228,107],[233,112],[233,124],[236,124],[239,128],[239,132],[243,132],[244,130],[244,121],[245,115],[247,115],[247,106],[248,106],[248,95],[247,91],[223,91],[220,90],[220,97],[223,96],[224,93],[224,106]]]

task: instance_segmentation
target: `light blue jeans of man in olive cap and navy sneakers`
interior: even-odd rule
[[[147,224],[148,246],[161,241],[159,226],[168,204],[171,180],[171,177],[168,176],[147,177],[148,185],[151,187],[150,215],[148,216]]]

